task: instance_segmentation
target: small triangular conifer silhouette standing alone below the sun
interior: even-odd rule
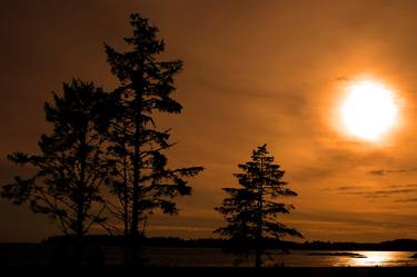
[[[238,254],[248,254],[255,248],[255,266],[262,264],[265,239],[281,239],[284,236],[302,237],[296,229],[278,221],[279,214],[288,214],[294,206],[278,202],[281,196],[297,196],[282,180],[284,170],[274,164],[267,145],[252,151],[251,160],[238,165],[241,172],[235,174],[239,188],[224,188],[230,196],[220,207],[215,208],[224,215],[227,226],[218,233],[235,241]]]

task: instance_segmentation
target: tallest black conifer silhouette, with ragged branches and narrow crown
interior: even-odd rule
[[[106,44],[108,62],[119,79],[113,91],[113,119],[110,126],[112,146],[109,148],[118,161],[119,175],[111,187],[120,205],[113,211],[123,220],[127,241],[132,246],[128,259],[137,261],[140,222],[155,208],[165,214],[178,211],[173,198],[190,195],[186,177],[193,177],[202,167],[168,169],[163,150],[170,130],[159,130],[155,112],[179,113],[181,105],[171,98],[176,90],[173,77],[182,61],[159,61],[163,40],[157,39],[158,28],[150,26],[138,13],[130,16],[133,36],[125,38],[130,51],[118,52]]]

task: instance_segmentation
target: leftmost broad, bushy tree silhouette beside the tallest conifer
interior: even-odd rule
[[[14,182],[2,187],[1,195],[16,205],[29,202],[32,211],[59,222],[63,234],[75,235],[78,261],[82,263],[85,234],[105,220],[100,186],[110,178],[112,168],[102,151],[107,96],[93,83],[80,80],[63,83],[63,95],[52,96],[44,111],[53,131],[41,136],[40,154],[8,156],[17,165],[31,166],[34,175],[14,177]]]

